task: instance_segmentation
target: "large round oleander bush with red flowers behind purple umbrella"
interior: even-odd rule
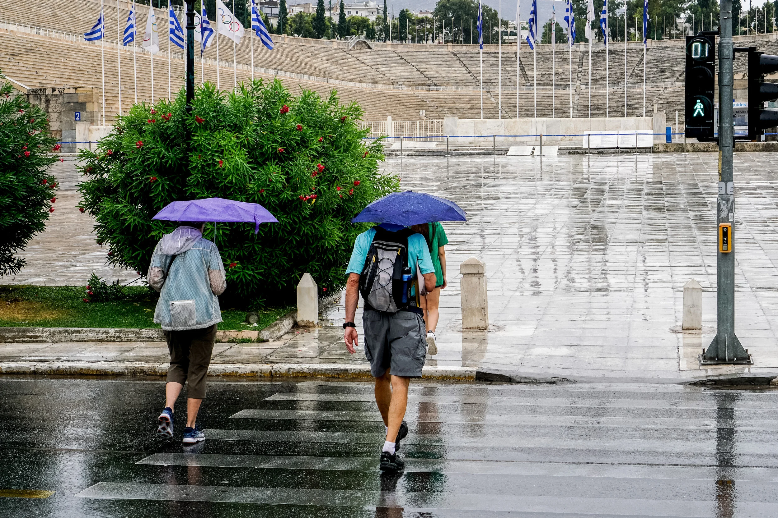
[[[380,141],[366,144],[356,103],[335,92],[292,96],[281,82],[257,80],[237,92],[206,83],[190,114],[184,90],[172,102],[137,104],[96,151],[81,151],[82,211],[96,219],[107,261],[143,272],[156,242],[174,228],[152,220],[168,203],[218,196],[260,203],[279,223],[206,225],[227,271],[223,298],[240,307],[293,301],[308,272],[320,294],[345,283],[359,232],[350,220],[399,188],[381,175]]]

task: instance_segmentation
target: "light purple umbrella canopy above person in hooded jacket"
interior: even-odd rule
[[[260,223],[279,221],[259,203],[205,198],[205,200],[174,201],[156,213],[152,219],[166,221],[227,221],[254,222],[254,234]]]

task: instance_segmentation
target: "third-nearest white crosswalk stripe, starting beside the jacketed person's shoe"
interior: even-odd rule
[[[382,429],[383,430],[383,429]],[[380,444],[384,441],[383,431],[376,433],[356,432],[317,432],[317,431],[279,431],[279,430],[236,430],[206,429],[208,440],[261,441],[280,443],[344,443],[344,444]],[[416,446],[445,446],[463,448],[556,448],[580,450],[610,451],[652,451],[678,453],[710,453],[717,448],[715,438],[698,441],[675,440],[605,440],[601,437],[592,440],[569,440],[558,437],[519,436],[450,436],[429,433],[411,433],[402,440],[403,444]],[[734,444],[734,454],[775,455],[778,452],[776,442],[746,442]]]

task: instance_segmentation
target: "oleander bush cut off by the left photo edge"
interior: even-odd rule
[[[0,71],[0,276],[21,271],[19,252],[54,212],[57,182],[47,170],[58,159],[49,151],[59,148],[46,112],[3,78]]]

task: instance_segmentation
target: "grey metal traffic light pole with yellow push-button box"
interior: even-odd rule
[[[732,0],[721,0],[719,40],[719,196],[717,200],[717,235],[727,230],[728,246],[723,251],[718,238],[717,252],[717,333],[710,346],[699,357],[700,363],[753,363],[734,334],[734,183],[732,181],[733,43]],[[730,227],[721,228],[721,224]]]

